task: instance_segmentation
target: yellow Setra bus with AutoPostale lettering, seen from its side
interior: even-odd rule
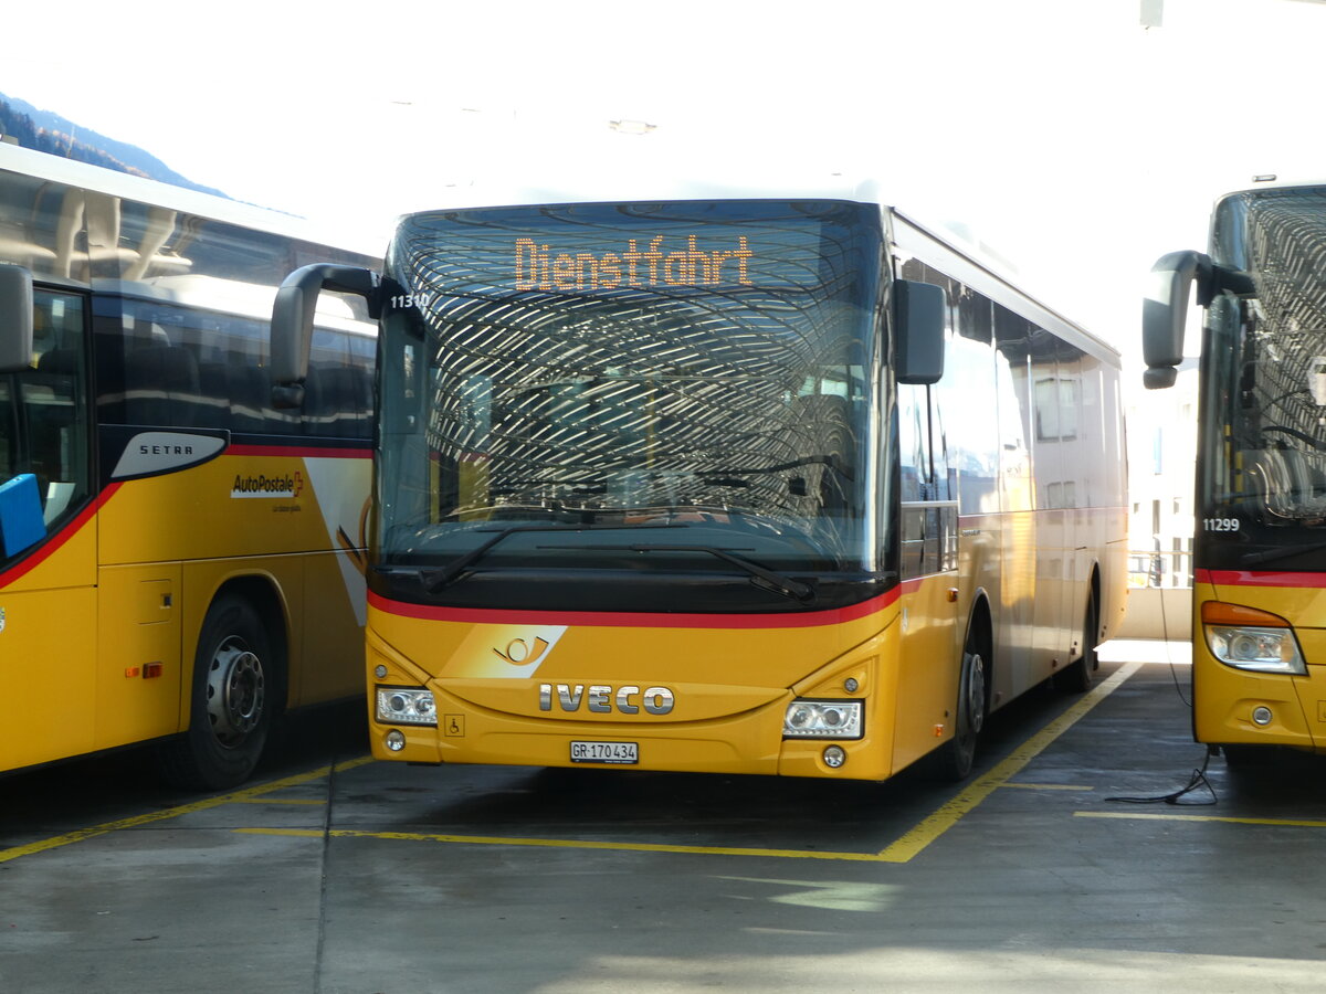
[[[362,693],[375,329],[268,318],[290,219],[0,144],[0,771],[155,741],[243,781],[285,708]],[[353,306],[350,306],[353,304]]]

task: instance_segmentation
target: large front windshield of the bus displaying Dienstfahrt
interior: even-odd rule
[[[377,562],[434,570],[435,594],[460,563],[727,574],[793,600],[813,598],[789,571],[879,570],[880,258],[879,209],[838,201],[407,217]]]

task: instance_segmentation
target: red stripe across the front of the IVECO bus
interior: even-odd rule
[[[430,607],[390,600],[369,592],[369,603],[379,611],[426,622],[465,622],[468,624],[565,624],[599,628],[813,628],[855,622],[882,611],[898,600],[900,587],[850,607],[808,611],[796,615],[701,615],[609,611],[509,611],[480,607]]]

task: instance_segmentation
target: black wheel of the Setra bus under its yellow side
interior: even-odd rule
[[[228,790],[249,778],[277,706],[272,640],[244,598],[219,596],[203,619],[194,656],[188,732],[160,746],[168,782]]]

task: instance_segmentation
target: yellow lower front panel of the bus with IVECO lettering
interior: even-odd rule
[[[378,722],[370,701],[374,754],[570,766],[572,741],[630,741],[639,745],[633,769],[884,779],[952,737],[949,579],[907,583],[853,610],[781,618],[493,611],[448,619],[370,596],[370,685],[427,687],[438,701],[436,728]],[[554,689],[541,708],[544,685],[585,688],[579,706],[568,712]],[[591,713],[585,704],[593,687],[613,688],[614,700],[636,688],[634,702],[655,685],[675,694],[666,716]],[[825,741],[784,740],[794,697],[866,702],[865,734],[834,740],[847,754],[841,767],[825,765]],[[403,750],[385,746],[391,729],[406,734]]]

